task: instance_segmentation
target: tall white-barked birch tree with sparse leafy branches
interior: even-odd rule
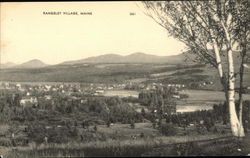
[[[217,69],[229,108],[231,131],[238,137],[245,134],[239,119],[242,111],[238,117],[235,108],[233,48],[234,45],[244,45],[244,39],[238,37],[241,33],[246,34],[246,30],[239,19],[247,14],[248,3],[248,0],[143,2],[145,14],[185,43],[189,52],[195,55],[195,61]],[[227,57],[226,66],[222,64],[222,56]],[[243,79],[243,72],[241,75]]]

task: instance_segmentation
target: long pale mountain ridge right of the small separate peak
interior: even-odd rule
[[[178,64],[185,60],[184,54],[173,56],[156,56],[145,53],[133,53],[127,56],[117,54],[105,54],[95,57],[89,57],[81,60],[66,61],[61,64],[73,65],[81,63],[168,63]]]

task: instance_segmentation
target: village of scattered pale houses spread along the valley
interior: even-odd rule
[[[78,101],[84,103],[86,100],[81,99],[81,96],[103,96],[105,91],[112,90],[155,90],[156,87],[163,86],[161,83],[156,84],[80,84],[80,83],[56,83],[56,84],[28,84],[28,83],[11,83],[1,82],[0,89],[12,91],[13,98],[15,95],[19,96],[19,103],[22,107],[38,106],[42,100],[51,101],[57,95],[69,97],[69,101]],[[175,90],[184,89],[185,85],[168,84],[168,87],[174,87]],[[136,87],[136,88],[135,88]],[[118,94],[119,96],[119,94]],[[129,94],[127,95],[129,96]],[[173,95],[175,98],[180,98],[179,95]]]

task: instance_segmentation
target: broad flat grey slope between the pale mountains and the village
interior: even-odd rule
[[[0,69],[1,81],[30,82],[87,82],[114,83],[151,74],[174,73],[178,70],[197,68],[196,65],[169,64],[76,64],[54,65],[33,69]],[[166,76],[166,75],[165,75]]]

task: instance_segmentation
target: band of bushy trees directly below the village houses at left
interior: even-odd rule
[[[26,106],[20,105],[20,99],[20,94],[2,93],[0,97],[0,120],[2,122],[33,121],[39,119],[41,111],[46,111],[51,115],[56,112],[65,116],[82,113],[87,116],[96,116],[104,122],[110,121],[111,123],[141,122],[143,119],[141,114],[128,104],[131,98],[56,95],[51,99],[38,97],[37,105],[27,103]]]

